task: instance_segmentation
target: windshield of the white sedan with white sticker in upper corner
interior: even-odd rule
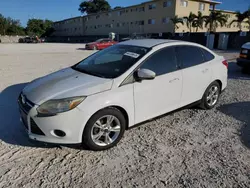
[[[138,46],[114,45],[87,57],[72,68],[102,78],[116,78],[149,50]]]

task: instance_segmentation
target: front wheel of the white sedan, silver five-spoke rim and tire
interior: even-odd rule
[[[111,123],[112,125],[110,124],[110,128],[107,128],[105,126],[108,125],[107,121],[109,117],[113,117],[114,120]],[[112,118],[110,118],[110,120],[111,119]],[[118,122],[120,126],[118,126]],[[82,144],[87,146],[90,150],[94,151],[101,151],[112,148],[121,140],[122,136],[124,135],[126,123],[127,122],[124,115],[118,109],[105,108],[103,110],[100,110],[95,113],[87,122],[83,132]],[[118,127],[120,127],[119,132],[117,131]],[[116,128],[116,132],[109,132],[112,128]],[[107,135],[109,139],[107,139]]]

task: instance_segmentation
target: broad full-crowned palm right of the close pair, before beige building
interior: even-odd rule
[[[211,11],[209,16],[204,16],[205,26],[209,25],[210,32],[216,32],[216,28],[220,25],[223,27],[227,23],[227,15],[222,14],[220,11]]]

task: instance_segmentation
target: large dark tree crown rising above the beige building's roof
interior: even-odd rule
[[[106,0],[83,1],[78,9],[81,13],[98,13],[111,10],[111,6]]]

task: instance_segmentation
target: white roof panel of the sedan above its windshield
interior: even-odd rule
[[[119,44],[152,48],[160,44],[173,43],[173,42],[179,42],[179,41],[164,40],[164,39],[135,39],[135,40],[128,40],[128,41],[120,42]]]

